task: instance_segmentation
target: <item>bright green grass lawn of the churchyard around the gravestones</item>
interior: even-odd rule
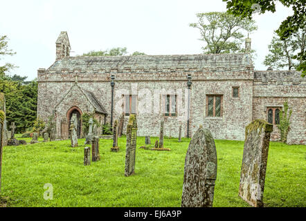
[[[151,137],[152,144],[155,140]],[[118,140],[118,153],[110,152],[111,140],[100,139],[101,160],[91,166],[83,166],[84,139],[77,148],[70,147],[70,140],[5,146],[1,197],[9,198],[7,206],[181,206],[189,141],[165,139],[164,146],[171,151],[148,151],[139,148],[145,137],[138,137],[135,175],[130,177],[124,175],[125,137]],[[213,206],[249,206],[238,197],[244,142],[215,140],[215,144]],[[306,206],[305,169],[305,145],[271,142],[264,206]],[[53,185],[53,200],[44,200],[46,183]]]

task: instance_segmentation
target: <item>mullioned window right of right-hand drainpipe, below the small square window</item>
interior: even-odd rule
[[[206,95],[206,116],[222,117],[222,95]]]

